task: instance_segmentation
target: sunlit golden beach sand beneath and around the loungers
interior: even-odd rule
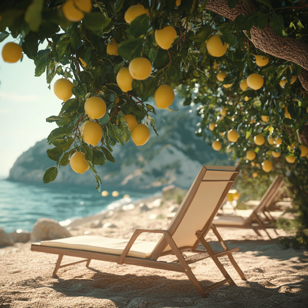
[[[135,204],[137,205],[137,204]],[[68,226],[73,236],[81,234],[129,238],[137,227],[166,228],[171,202],[141,212],[113,211],[76,221]],[[156,219],[153,219],[155,215]],[[102,220],[105,228],[90,228]],[[117,265],[92,260],[52,272],[56,255],[30,251],[30,243],[16,243],[0,249],[0,307],[5,308],[184,308],[184,307],[307,307],[308,252],[293,248],[282,249],[279,236],[269,230],[269,239],[257,237],[250,229],[218,228],[229,248],[239,246],[233,256],[247,281],[242,281],[227,257],[220,258],[237,286],[223,285],[201,298],[185,274]],[[160,235],[141,235],[140,239],[156,241]],[[206,237],[213,249],[221,249],[213,233]],[[200,247],[201,248],[201,247]],[[188,255],[189,253],[186,253]],[[174,256],[163,257],[172,261]],[[63,257],[63,263],[79,261]],[[191,264],[203,287],[223,279],[211,259]]]

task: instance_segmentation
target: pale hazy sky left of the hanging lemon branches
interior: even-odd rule
[[[9,36],[0,43],[0,50]],[[18,43],[18,42],[17,42]],[[46,44],[39,45],[44,49]],[[49,90],[46,72],[34,77],[33,60],[24,55],[22,62],[6,63],[0,56],[0,177],[7,177],[15,160],[37,141],[47,138],[57,127],[46,118],[58,115],[62,100],[53,92],[56,75]]]

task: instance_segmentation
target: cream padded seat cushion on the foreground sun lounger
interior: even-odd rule
[[[123,252],[127,243],[128,240],[90,235],[67,237],[51,241],[41,241],[41,245],[43,246],[80,249],[117,255],[120,255]],[[148,258],[156,244],[156,242],[139,241],[137,239],[134,245],[132,245],[131,250],[128,252],[128,256],[143,259]]]

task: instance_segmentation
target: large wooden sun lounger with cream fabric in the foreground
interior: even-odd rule
[[[207,297],[206,291],[221,284],[228,282],[230,285],[235,285],[219,261],[219,257],[228,256],[241,279],[246,280],[232,256],[233,252],[239,250],[238,247],[229,249],[212,223],[238,173],[239,169],[235,167],[202,167],[167,229],[136,229],[129,241],[94,236],[42,241],[32,244],[31,250],[59,255],[54,275],[64,266],[80,262],[87,262],[86,266],[89,266],[91,259],[139,265],[184,273],[199,294]],[[222,251],[213,250],[205,240],[204,237],[210,229],[221,243]],[[157,243],[138,241],[137,237],[144,232],[162,233],[163,236]],[[95,241],[97,241],[96,246]],[[200,243],[205,249],[197,249]],[[194,254],[185,258],[181,253],[183,251]],[[177,259],[172,262],[157,261],[159,257],[170,254],[174,254]],[[64,255],[85,259],[61,265]],[[189,264],[208,257],[213,259],[225,279],[203,288]]]

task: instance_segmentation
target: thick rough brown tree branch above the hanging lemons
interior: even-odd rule
[[[249,5],[240,0],[233,9],[229,9],[228,0],[208,0],[205,9],[213,11],[221,16],[234,20],[238,15],[248,15],[259,9],[248,0]],[[270,24],[267,23],[263,29],[253,26],[250,30],[251,42],[258,49],[269,55],[292,61],[304,68],[298,76],[302,87],[308,91],[308,44],[289,37],[281,38],[276,35]]]

